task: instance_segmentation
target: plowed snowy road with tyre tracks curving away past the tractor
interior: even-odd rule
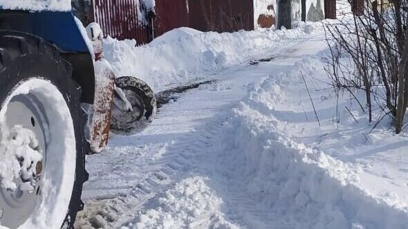
[[[298,43],[293,41],[279,46],[276,53],[271,53],[271,57],[274,57],[270,59],[272,62],[261,60],[257,64],[252,62],[221,71],[215,77],[209,76],[216,82],[176,95],[178,99],[165,104],[145,132],[137,136],[113,136],[106,152],[89,156],[86,162],[90,179],[84,186],[83,194],[86,207],[77,219],[77,228],[91,225],[95,228],[120,228],[134,223],[138,221],[140,212],[154,208],[158,196],[174,188],[180,181],[192,182],[194,186],[205,185],[202,183],[204,179],[205,183],[214,185],[212,188],[216,192],[228,190],[223,185],[223,179],[227,177],[212,174],[213,165],[208,160],[208,150],[214,144],[214,136],[231,115],[232,108],[246,94],[245,85],[257,82],[271,71],[287,68],[290,56],[295,59],[289,62],[297,61],[299,48],[304,46],[304,43]],[[285,53],[285,56],[281,53]],[[279,59],[286,61],[279,64]],[[239,177],[232,179],[239,180]],[[214,203],[205,203],[204,198],[203,205],[219,208],[216,206],[219,197],[213,198]],[[234,205],[235,202],[240,205],[235,205],[234,211],[251,205],[239,193],[229,193],[228,199],[232,199]],[[223,201],[228,199],[223,198]],[[227,214],[232,221],[234,217],[243,217],[239,212],[223,214]],[[270,218],[265,217],[267,212],[256,209],[245,214],[254,214],[261,222]],[[192,224],[199,226],[209,223],[212,217],[214,215],[203,215]],[[268,224],[267,221],[262,223]]]

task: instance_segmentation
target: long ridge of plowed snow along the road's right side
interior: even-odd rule
[[[275,116],[293,84],[302,78],[271,75],[248,86],[248,97],[212,149],[212,161],[221,168],[214,173],[234,178],[234,189],[288,228],[407,228],[408,208],[364,189],[359,167],[294,140],[288,122]],[[262,228],[256,219],[246,223]]]

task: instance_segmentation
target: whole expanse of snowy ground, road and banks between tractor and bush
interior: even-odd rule
[[[109,44],[145,57],[150,66],[137,71],[108,55],[116,71],[122,64],[156,91],[216,81],[175,95],[145,132],[112,136],[106,152],[87,158],[76,228],[408,228],[406,136],[394,136],[387,118],[371,131],[355,100],[328,89],[319,24],[180,35],[133,51],[120,48],[129,41]],[[239,37],[257,37],[261,48]]]

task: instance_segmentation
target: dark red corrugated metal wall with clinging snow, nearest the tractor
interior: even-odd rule
[[[186,0],[156,0],[154,33],[140,0],[94,0],[94,11],[105,36],[136,39],[139,45],[151,42],[153,34],[158,37],[173,28],[189,26]]]

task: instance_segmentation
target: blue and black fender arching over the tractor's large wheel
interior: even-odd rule
[[[82,87],[82,102],[93,103],[93,59],[72,12],[2,10],[0,6],[0,30],[35,35],[57,46],[73,67],[73,79]]]

